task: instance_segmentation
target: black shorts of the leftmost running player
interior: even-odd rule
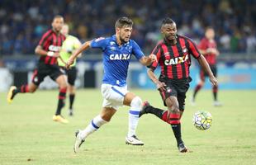
[[[40,82],[43,82],[46,76],[50,76],[50,78],[55,81],[63,74],[64,70],[59,68],[58,65],[39,63],[38,67],[34,70],[32,82],[39,86]]]

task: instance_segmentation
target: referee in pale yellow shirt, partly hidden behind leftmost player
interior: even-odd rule
[[[65,63],[68,61],[69,57],[72,55],[74,50],[77,50],[81,46],[81,42],[78,40],[77,37],[73,35],[69,35],[69,26],[64,24],[61,29],[61,33],[65,35],[66,40],[60,50],[60,57],[58,59],[58,64],[61,68],[63,68],[68,76],[68,92],[69,92],[69,115],[73,115],[73,101],[75,97],[75,87],[74,82],[77,78],[77,68],[75,67],[76,61],[70,66],[69,69],[65,68]]]

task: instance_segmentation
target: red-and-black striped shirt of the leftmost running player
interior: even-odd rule
[[[64,40],[65,40],[64,35],[62,35],[61,33],[56,34],[55,31],[49,30],[49,31],[46,31],[45,34],[42,36],[39,42],[39,45],[45,51],[59,52]],[[51,57],[48,55],[41,55],[40,62],[54,65],[54,64],[57,64],[57,58]]]

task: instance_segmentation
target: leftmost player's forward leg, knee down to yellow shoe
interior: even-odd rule
[[[69,121],[64,119],[64,117],[61,115],[61,110],[64,107],[64,101],[66,98],[66,92],[68,87],[67,77],[64,74],[59,75],[59,77],[56,78],[55,82],[57,82],[59,85],[59,101],[57,110],[55,112],[55,115],[53,116],[53,120],[59,121],[64,124],[69,123]]]

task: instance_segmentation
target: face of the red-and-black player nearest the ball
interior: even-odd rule
[[[161,33],[168,40],[175,40],[177,35],[177,27],[175,23],[164,24],[161,27]]]

